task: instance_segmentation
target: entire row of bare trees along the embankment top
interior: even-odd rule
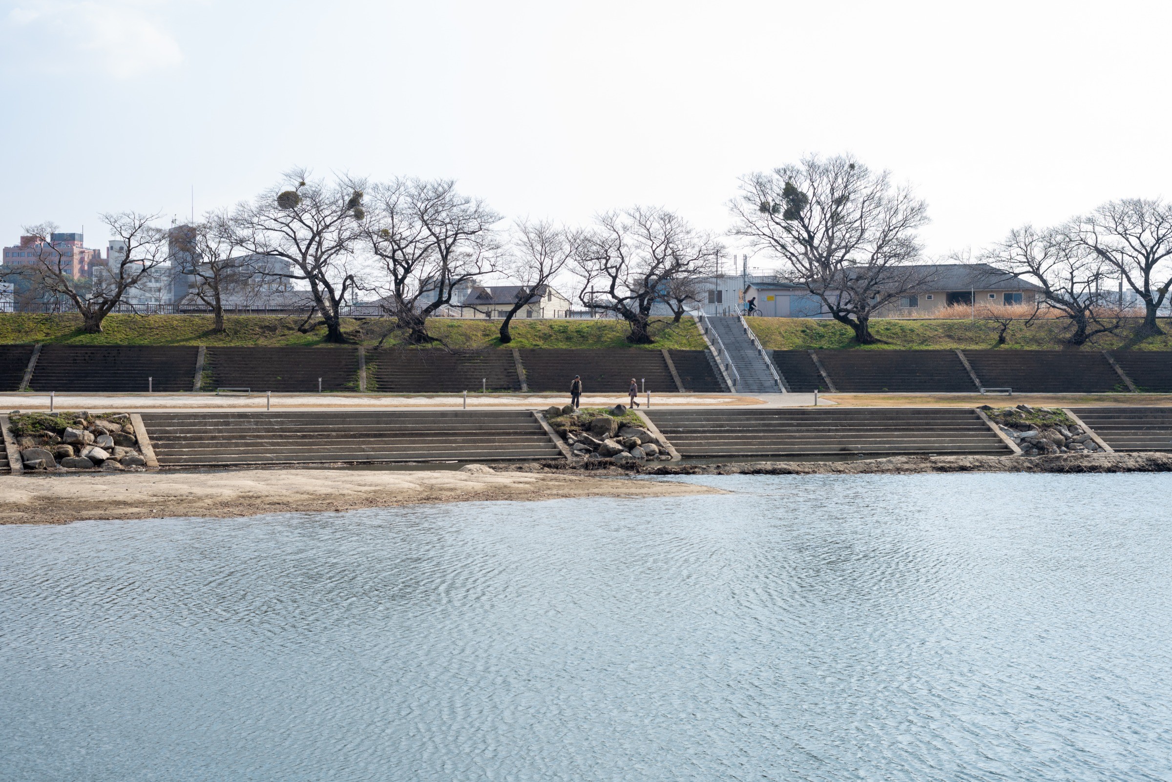
[[[888,172],[849,156],[808,157],[745,176],[730,210],[730,234],[777,260],[779,276],[816,297],[859,343],[875,342],[878,314],[932,286],[934,267],[921,262],[918,239],[927,205]],[[518,220],[505,228],[500,214],[451,180],[327,180],[304,169],[196,226],[165,231],[155,226],[157,215],[134,212],[103,219],[121,251],[101,274],[77,279],[68,251],[50,241],[52,225],[26,229],[39,248],[34,263],[4,267],[71,302],[87,331],[100,331],[130,289],[172,263],[193,280],[192,294],[214,314],[216,330],[224,328],[226,290],[277,277],[312,302],[302,330],[325,328],[327,341],[347,341],[343,313],[362,296],[395,331],[422,344],[434,341],[429,318],[458,291],[509,276],[522,284],[502,318],[507,343],[513,317],[554,281],[573,277],[578,303],[622,318],[628,339],[645,344],[653,341],[654,313],[668,310],[679,321],[700,301],[722,252],[715,235],[659,207],[606,212],[586,227]],[[1139,336],[1160,332],[1170,256],[1172,208],[1124,200],[1054,228],[1015,229],[977,260],[1007,280],[1037,286],[1038,306],[1068,317],[1070,342],[1081,344],[1123,323],[1111,280],[1143,302]]]

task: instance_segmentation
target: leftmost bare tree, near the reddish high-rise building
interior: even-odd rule
[[[22,280],[28,289],[43,291],[55,301],[68,301],[82,317],[82,331],[100,334],[105,316],[117,308],[127,291],[138,286],[168,261],[166,234],[156,227],[157,214],[116,212],[102,215],[116,251],[104,265],[93,265],[89,279],[75,276],[74,259],[53,241],[56,226],[45,222],[25,228],[33,262],[7,276]]]

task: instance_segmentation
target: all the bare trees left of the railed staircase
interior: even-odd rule
[[[27,229],[40,256],[9,274],[35,275],[33,284],[68,299],[91,332],[101,331],[129,289],[171,263],[193,280],[192,294],[213,313],[216,330],[224,329],[225,291],[259,275],[308,295],[302,330],[325,328],[327,341],[346,342],[343,313],[361,295],[416,344],[434,341],[428,320],[457,291],[500,276],[522,283],[502,318],[500,341],[507,343],[513,317],[556,280],[572,276],[582,307],[621,317],[631,342],[648,343],[656,306],[669,307],[679,321],[699,301],[720,252],[713,235],[663,208],[607,212],[586,228],[531,220],[504,228],[500,214],[451,180],[325,180],[304,169],[198,225],[165,231],[154,227],[156,219],[107,215],[124,252],[94,277],[101,286],[71,274],[66,251],[50,241],[53,226]]]

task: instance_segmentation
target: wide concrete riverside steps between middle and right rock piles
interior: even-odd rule
[[[648,417],[684,458],[1010,452],[967,409],[714,409]]]

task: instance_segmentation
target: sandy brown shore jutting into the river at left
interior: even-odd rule
[[[462,500],[684,496],[720,489],[565,473],[273,469],[0,478],[0,523],[248,516]]]

